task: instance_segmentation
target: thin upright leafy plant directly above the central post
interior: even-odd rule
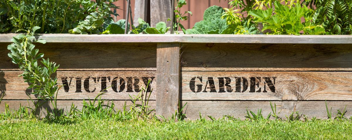
[[[181,28],[181,30],[183,31],[183,33],[186,34],[186,29],[183,27],[183,25],[180,23],[183,20],[187,20],[188,16],[186,16],[186,14],[190,14],[192,15],[192,12],[190,11],[185,11],[184,13],[181,12],[181,8],[183,7],[183,5],[187,5],[186,0],[176,0],[177,2],[177,6],[175,7],[174,13],[175,13],[175,20],[174,20],[174,31],[176,34],[178,34],[178,28]],[[170,19],[168,19],[170,20]]]

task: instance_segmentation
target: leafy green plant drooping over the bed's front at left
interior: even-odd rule
[[[32,88],[32,94],[38,95],[39,99],[53,99],[55,92],[58,89],[57,78],[52,78],[51,75],[56,72],[59,65],[55,62],[50,62],[49,58],[44,59],[43,53],[38,53],[39,49],[34,49],[35,45],[32,42],[45,44],[45,40],[36,40],[33,36],[34,32],[40,27],[34,26],[30,33],[18,34],[11,39],[12,44],[7,46],[11,50],[8,56],[14,64],[24,71],[23,79],[25,82],[31,83],[28,88]],[[42,61],[40,61],[42,59]],[[43,64],[38,64],[39,61]]]

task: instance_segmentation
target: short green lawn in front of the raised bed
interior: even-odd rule
[[[352,121],[0,120],[0,139],[352,139]]]

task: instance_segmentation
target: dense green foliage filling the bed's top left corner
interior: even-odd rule
[[[0,33],[99,33],[118,16],[117,0],[2,0]],[[114,10],[111,11],[111,8]]]

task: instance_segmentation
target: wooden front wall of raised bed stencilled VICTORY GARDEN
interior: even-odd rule
[[[7,56],[15,34],[0,34],[0,94],[11,108],[28,105],[29,84]],[[244,118],[244,111],[280,115],[294,111],[326,118],[347,107],[352,115],[352,36],[350,35],[75,35],[44,34],[36,44],[60,64],[58,107],[106,92],[116,109],[130,103],[148,80],[150,105],[170,116],[178,100],[189,119],[211,115]],[[109,87],[109,88],[107,88]],[[106,91],[103,89],[107,88]],[[148,88],[148,90],[150,90]],[[36,98],[30,95],[32,98]],[[31,105],[31,103],[30,103]],[[43,106],[50,108],[50,104]],[[45,109],[44,109],[45,110]],[[335,114],[333,114],[335,115]]]

